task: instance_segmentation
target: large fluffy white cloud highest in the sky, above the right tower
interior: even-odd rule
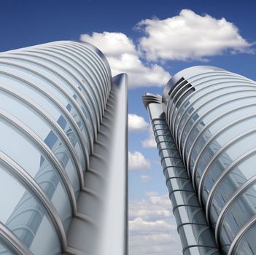
[[[145,36],[139,40],[148,60],[203,60],[224,52],[252,52],[233,23],[224,17],[198,15],[182,9],[179,15],[165,20],[141,20],[136,26]]]

